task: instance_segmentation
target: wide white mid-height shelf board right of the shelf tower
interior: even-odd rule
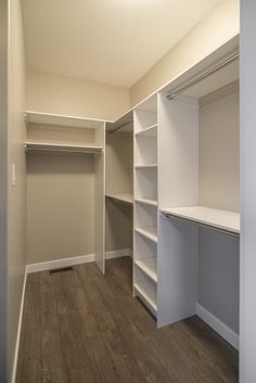
[[[240,214],[204,206],[163,208],[162,213],[203,224],[231,233],[240,233]]]

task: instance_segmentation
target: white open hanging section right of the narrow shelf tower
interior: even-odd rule
[[[231,66],[201,81],[191,71],[158,97],[157,325],[203,307],[236,347],[238,318],[229,318],[239,311],[238,62]]]

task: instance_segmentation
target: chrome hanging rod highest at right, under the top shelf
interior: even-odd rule
[[[226,66],[230,65],[231,63],[233,63],[234,61],[236,61],[239,58],[240,58],[240,53],[233,54],[229,59],[227,59],[223,62],[221,62],[221,63],[217,64],[216,66],[212,67],[209,71],[203,73],[199,77],[196,77],[196,78],[192,79],[191,81],[182,85],[181,87],[178,87],[178,88],[174,89],[172,91],[170,91],[169,93],[166,94],[166,99],[167,100],[172,100],[176,95],[178,95],[179,93],[181,93],[185,89],[189,89],[189,88],[193,87],[194,85],[201,82],[205,78],[214,75],[218,71],[222,69],[223,67],[226,67]]]

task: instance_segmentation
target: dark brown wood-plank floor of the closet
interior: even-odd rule
[[[197,317],[163,329],[131,296],[131,260],[27,278],[16,383],[234,383],[238,353]]]

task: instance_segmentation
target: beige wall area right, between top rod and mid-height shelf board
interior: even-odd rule
[[[200,107],[200,204],[239,212],[239,92]]]

